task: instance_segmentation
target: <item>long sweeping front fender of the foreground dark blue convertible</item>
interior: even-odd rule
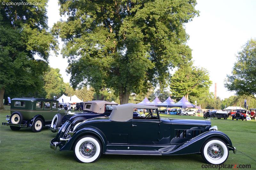
[[[229,147],[233,147],[230,138],[228,138],[225,133],[221,131],[206,131],[185,143],[177,145],[174,149],[164,150],[163,148],[161,153],[168,155],[200,153],[204,142],[210,138],[220,138],[226,142]]]

